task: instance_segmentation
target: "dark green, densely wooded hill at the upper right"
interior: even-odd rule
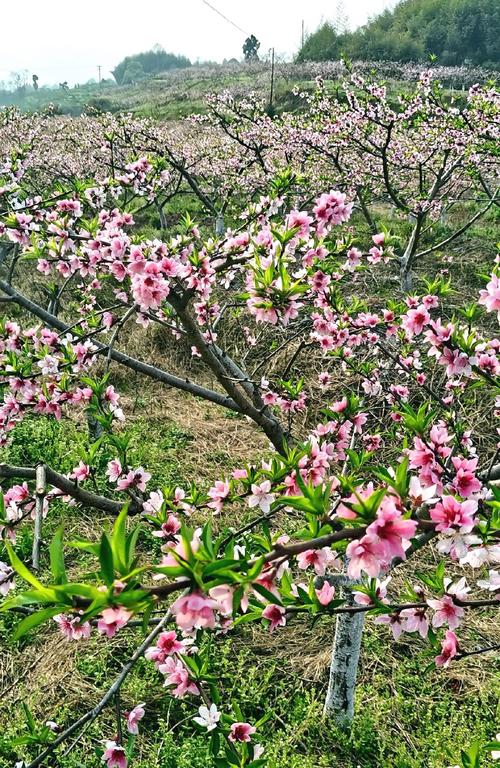
[[[324,23],[297,61],[418,61],[500,68],[500,0],[402,0],[355,32]]]

